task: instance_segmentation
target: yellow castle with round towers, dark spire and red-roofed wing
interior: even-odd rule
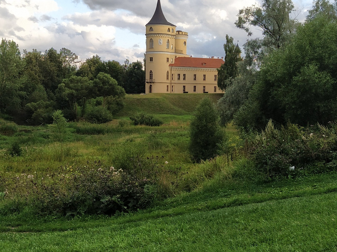
[[[188,33],[167,22],[160,0],[146,25],[146,94],[223,93],[218,88],[219,58],[187,55]]]

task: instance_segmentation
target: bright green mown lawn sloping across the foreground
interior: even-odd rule
[[[0,217],[0,251],[337,251],[336,199],[328,174],[208,185],[120,217]]]

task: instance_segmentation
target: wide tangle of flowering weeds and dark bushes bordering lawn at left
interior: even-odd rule
[[[65,166],[55,173],[7,177],[2,184],[6,188],[1,199],[2,215],[21,212],[25,207],[42,215],[112,215],[146,207],[155,192],[149,190],[151,181],[121,168],[105,168],[100,162],[77,168]]]

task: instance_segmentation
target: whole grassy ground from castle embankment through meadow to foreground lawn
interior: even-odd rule
[[[227,153],[194,163],[189,121],[202,97],[127,95],[113,121],[72,122],[62,143],[48,125],[0,119],[0,251],[337,251],[336,172],[261,180],[231,125],[223,129]],[[163,124],[132,125],[135,112]],[[62,214],[45,205],[60,200],[64,207],[67,193],[67,200],[85,197],[76,181],[87,183],[90,174],[105,179],[111,167],[153,181],[142,191],[142,207],[114,214],[69,207]],[[123,186],[116,188],[125,192]]]

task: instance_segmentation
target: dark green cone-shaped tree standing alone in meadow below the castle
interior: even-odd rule
[[[198,162],[213,158],[219,154],[223,140],[215,105],[205,97],[196,107],[190,123],[190,153]]]

